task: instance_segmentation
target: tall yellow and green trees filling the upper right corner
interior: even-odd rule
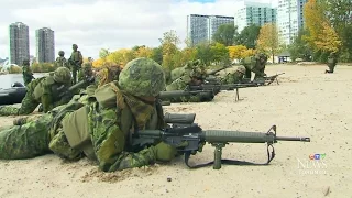
[[[339,62],[352,61],[352,1],[308,0],[304,8],[305,29],[293,45],[292,57],[326,62],[329,54],[339,55]]]

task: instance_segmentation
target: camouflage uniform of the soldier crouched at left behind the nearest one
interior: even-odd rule
[[[51,73],[50,76],[31,81],[26,87],[26,94],[21,107],[1,106],[0,116],[30,114],[40,103],[43,105],[43,111],[47,112],[57,106],[67,103],[70,98],[58,98],[59,92],[57,89],[69,87],[70,80],[69,69],[59,67],[54,73]]]

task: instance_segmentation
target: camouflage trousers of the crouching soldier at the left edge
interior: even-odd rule
[[[38,80],[33,80],[26,87],[26,94],[22,99],[20,108],[14,106],[0,106],[0,116],[18,116],[18,114],[30,114],[40,105],[33,97],[34,88],[38,85]]]

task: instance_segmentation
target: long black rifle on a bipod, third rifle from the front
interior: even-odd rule
[[[199,86],[188,86],[187,90],[213,90],[213,92],[217,95],[221,90],[234,90],[237,91],[235,100],[240,100],[240,88],[246,88],[246,87],[258,87],[258,84],[255,82],[248,82],[248,84],[202,84]]]

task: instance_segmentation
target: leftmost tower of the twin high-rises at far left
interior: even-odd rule
[[[10,37],[10,64],[22,65],[24,59],[30,59],[29,26],[22,22],[11,23]]]

